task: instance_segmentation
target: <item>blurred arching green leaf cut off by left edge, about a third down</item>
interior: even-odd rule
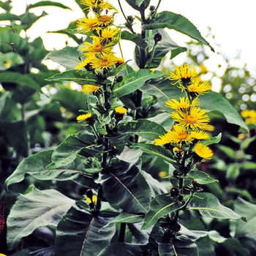
[[[0,72],[0,83],[15,83],[18,85],[29,87],[34,91],[41,90],[41,86],[29,75],[23,75],[18,72]]]

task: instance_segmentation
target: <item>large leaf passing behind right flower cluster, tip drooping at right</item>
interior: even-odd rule
[[[157,96],[159,104],[162,108],[167,110],[167,112],[172,111],[170,108],[165,106],[165,102],[168,99],[186,97],[186,94],[181,93],[181,90],[178,89],[177,86],[172,85],[171,81],[167,78],[150,80],[148,83],[140,87],[140,91]],[[237,124],[248,129],[236,109],[233,108],[227,99],[222,97],[221,94],[210,91],[208,94],[200,96],[200,108],[206,109],[207,111],[213,111],[217,115],[225,118],[230,124]]]

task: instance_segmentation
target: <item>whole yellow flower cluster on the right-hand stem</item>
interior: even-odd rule
[[[213,154],[210,148],[199,142],[209,138],[208,133],[203,129],[208,127],[210,121],[206,110],[200,108],[199,95],[211,90],[211,83],[200,83],[200,79],[196,78],[197,75],[195,67],[189,67],[188,64],[176,67],[176,72],[170,72],[169,79],[176,80],[173,84],[178,84],[178,88],[185,91],[187,97],[167,100],[166,106],[173,110],[170,117],[175,124],[165,135],[155,139],[154,143],[180,149],[193,146],[195,156],[200,159],[211,159]]]

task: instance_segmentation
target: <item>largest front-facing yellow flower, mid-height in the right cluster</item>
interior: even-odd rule
[[[197,107],[190,108],[189,112],[176,110],[176,112],[170,114],[170,117],[181,126],[193,130],[205,128],[210,121],[210,118],[206,115],[206,110],[201,110]]]

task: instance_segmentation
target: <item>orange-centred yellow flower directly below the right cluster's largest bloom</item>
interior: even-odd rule
[[[185,127],[178,124],[173,125],[173,129],[168,130],[168,132],[170,133],[168,138],[170,138],[171,142],[179,144],[180,147],[182,143],[192,143],[194,139],[189,135]]]

